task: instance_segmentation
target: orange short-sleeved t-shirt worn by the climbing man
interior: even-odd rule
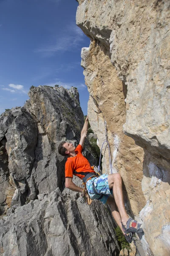
[[[96,173],[88,160],[82,155],[82,146],[79,144],[75,149],[76,157],[68,157],[65,163],[65,177],[78,176],[80,179],[84,178],[89,172]]]

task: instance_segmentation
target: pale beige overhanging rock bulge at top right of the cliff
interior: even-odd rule
[[[111,61],[128,85],[125,132],[148,151],[152,146],[152,154],[167,159],[169,5],[168,0],[153,0],[149,4],[85,0],[77,11],[78,26],[110,49]]]

